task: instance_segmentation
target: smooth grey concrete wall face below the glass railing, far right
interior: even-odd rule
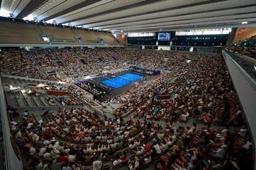
[[[226,52],[223,51],[226,65],[228,66],[234,87],[238,94],[242,108],[244,110],[247,123],[253,138],[253,149],[255,158],[256,146],[256,82],[242,69]],[[254,169],[255,161],[254,161]]]

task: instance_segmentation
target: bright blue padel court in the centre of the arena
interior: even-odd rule
[[[118,87],[124,86],[128,83],[132,83],[133,81],[136,81],[138,79],[142,79],[142,78],[143,78],[143,76],[127,73],[126,75],[117,76],[117,77],[111,78],[111,79],[106,79],[105,81],[101,81],[101,83],[104,83],[104,84],[114,87],[114,88],[118,88]]]

